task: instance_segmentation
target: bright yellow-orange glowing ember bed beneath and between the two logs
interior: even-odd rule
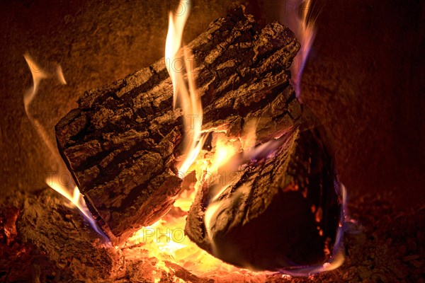
[[[197,172],[197,178],[204,181],[213,175],[208,171],[208,165],[213,164],[212,160],[229,160],[232,154],[232,146],[222,144],[224,141],[217,142],[221,144],[220,150],[212,156],[206,151],[201,151],[199,158],[189,168],[190,172]],[[229,143],[230,144],[230,143]],[[124,246],[119,247],[124,250],[125,258],[137,258],[140,256],[140,250],[147,250],[149,257],[157,258],[159,262],[157,267],[169,271],[166,262],[174,262],[177,265],[193,272],[200,277],[215,279],[215,282],[245,282],[246,275],[249,275],[253,282],[263,282],[268,272],[252,272],[242,268],[229,265],[222,260],[215,258],[200,249],[196,243],[193,243],[184,234],[186,224],[186,215],[189,209],[187,204],[191,204],[195,197],[196,188],[201,182],[188,190],[183,190],[178,200],[174,204],[174,209],[152,226],[144,227],[137,231]],[[183,210],[184,209],[184,210]],[[183,211],[183,212],[182,212]],[[177,216],[176,216],[177,215]],[[159,278],[154,278],[158,281]]]

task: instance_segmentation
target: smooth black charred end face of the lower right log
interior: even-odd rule
[[[305,198],[280,190],[263,214],[215,235],[215,256],[253,270],[317,264],[324,261],[324,239],[316,226]]]

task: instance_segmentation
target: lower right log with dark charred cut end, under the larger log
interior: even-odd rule
[[[229,183],[222,175],[204,183],[185,228],[200,248],[255,270],[329,259],[341,219],[332,158],[317,129],[280,139],[273,156],[240,166]]]

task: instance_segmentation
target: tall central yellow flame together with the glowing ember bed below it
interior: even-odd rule
[[[205,250],[201,250],[184,235],[183,231],[186,224],[186,214],[193,203],[198,187],[207,181],[206,179],[211,174],[216,174],[220,166],[228,163],[232,156],[241,150],[242,146],[241,141],[229,141],[223,134],[222,138],[218,139],[215,144],[215,154],[202,150],[203,139],[208,132],[223,132],[225,130],[206,129],[201,131],[203,112],[191,73],[193,70],[193,65],[191,64],[193,63],[193,57],[191,56],[191,51],[186,47],[183,47],[183,52],[180,51],[181,37],[188,18],[190,4],[190,1],[181,1],[180,6],[185,7],[181,10],[182,12],[176,11],[169,14],[165,58],[166,69],[169,71],[173,83],[174,108],[179,106],[183,110],[183,116],[185,117],[184,158],[178,165],[179,172],[182,176],[189,176],[190,173],[200,173],[196,176],[198,182],[192,184],[188,190],[183,190],[174,204],[176,210],[184,212],[182,215],[172,216],[173,213],[171,212],[152,226],[144,227],[137,231],[134,236],[128,239],[125,246],[131,247],[143,243],[143,248],[149,250],[149,256],[161,260],[158,266],[165,270],[168,270],[165,262],[172,260],[196,275],[222,276],[224,272],[226,275],[231,276],[232,281],[234,281],[235,279],[237,280],[238,275],[246,275],[249,271],[228,265],[205,252]],[[186,81],[184,80],[183,67],[186,69],[188,86],[186,86]],[[246,148],[255,142],[255,139],[253,140],[252,138],[252,132],[255,133],[255,127],[250,125],[249,133],[246,133],[243,141]],[[237,149],[238,147],[239,149]],[[129,254],[134,252],[134,250],[128,249]],[[258,276],[263,277],[264,275]],[[242,281],[242,277],[239,280]],[[222,277],[222,279],[224,278]]]

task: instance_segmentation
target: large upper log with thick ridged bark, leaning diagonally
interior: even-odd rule
[[[261,117],[257,138],[288,131],[301,108],[288,71],[299,43],[279,23],[244,8],[211,23],[188,47],[203,103],[203,128],[234,137]],[[56,126],[57,145],[98,223],[114,243],[157,221],[181,188],[175,161],[183,136],[165,59],[87,91]]]

